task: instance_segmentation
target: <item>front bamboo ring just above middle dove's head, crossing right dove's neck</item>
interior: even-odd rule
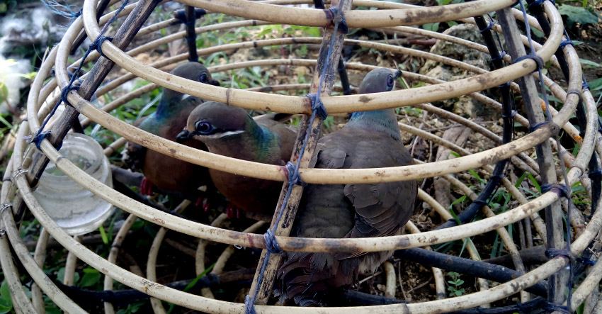
[[[477,2],[473,2],[477,3]],[[253,3],[255,5],[257,3]],[[263,4],[261,4],[263,5]],[[538,55],[543,60],[550,60],[550,56],[555,52],[562,40],[562,18],[555,10],[550,11],[550,21],[552,23],[552,32],[550,37],[543,45]],[[84,28],[89,38],[96,39],[99,34],[98,23],[96,22],[96,11],[91,1],[84,2]],[[104,41],[102,49],[105,55],[113,60],[117,65],[127,69],[129,72],[139,77],[166,86],[169,89],[181,91],[185,94],[198,96],[203,99],[220,101],[243,108],[276,111],[281,113],[310,113],[311,101],[307,97],[283,96],[283,95],[263,95],[259,99],[251,91],[242,91],[237,89],[225,89],[217,86],[208,86],[193,82],[181,77],[174,77],[165,72],[152,67],[142,65],[132,57],[119,50],[110,42]],[[482,89],[499,86],[509,82],[517,77],[533,72],[535,70],[535,61],[523,60],[504,69],[499,69],[488,74],[481,74],[468,79],[461,79],[455,82],[438,84],[435,86],[424,86],[417,89],[407,89],[402,91],[392,91],[387,93],[370,94],[368,100],[362,96],[336,96],[324,97],[323,103],[330,113],[345,113],[351,111],[368,111],[382,108],[394,108],[396,106],[409,106],[414,103],[433,101],[433,99],[447,99],[460,96]],[[463,86],[458,89],[458,86]],[[188,87],[188,88],[187,88]],[[428,95],[426,97],[425,95]],[[399,101],[404,99],[404,101]],[[360,108],[357,103],[363,103]],[[564,123],[562,123],[564,124]]]

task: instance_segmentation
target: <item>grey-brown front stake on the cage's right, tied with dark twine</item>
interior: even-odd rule
[[[525,46],[518,34],[518,25],[513,17],[510,8],[497,11],[499,23],[504,30],[504,38],[508,46],[509,54],[512,60],[526,55]],[[528,26],[527,26],[528,27]],[[510,31],[509,31],[510,30]],[[512,31],[515,30],[515,31]],[[523,102],[527,111],[527,118],[530,125],[543,123],[545,118],[540,105],[537,85],[533,76],[526,75],[518,81],[518,86],[521,88]],[[556,172],[554,167],[554,159],[552,157],[552,147],[550,142],[544,141],[535,147],[537,153],[537,161],[540,166],[540,175],[543,184],[556,183]],[[562,226],[562,208],[560,203],[555,202],[551,206],[545,208],[545,222],[547,247],[555,249],[564,248],[563,226]],[[563,269],[553,274],[548,281],[550,283],[548,301],[552,303],[562,304],[564,301],[564,288],[567,283],[567,270]]]

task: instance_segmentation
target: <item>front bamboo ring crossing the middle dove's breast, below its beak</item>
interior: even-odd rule
[[[66,34],[66,36],[67,36],[67,34]],[[62,42],[62,44],[59,46],[60,47],[59,50],[62,50],[62,51],[67,50],[67,48],[64,47],[64,45],[63,45],[63,43],[66,43],[66,42],[67,41]],[[59,55],[61,55],[61,54],[59,54]],[[62,58],[57,56],[57,66],[59,68],[62,68],[62,64],[63,64]],[[155,71],[161,72],[159,70],[155,70]],[[57,78],[59,79],[59,81],[62,81],[64,84],[66,84],[67,74],[64,72],[59,74],[59,72],[61,72],[61,71],[57,71]],[[164,72],[161,72],[161,73],[164,73]],[[489,74],[491,74],[491,73],[494,73],[494,72],[490,72]],[[175,80],[175,78],[174,78],[174,80]],[[186,81],[186,79],[183,79],[183,80]],[[63,84],[59,84],[59,85],[63,85]],[[439,84],[439,85],[441,85],[441,84]],[[250,92],[250,93],[252,93],[252,92]],[[397,91],[390,92],[390,93],[378,93],[378,94],[385,94],[385,96],[387,96],[386,94],[394,94],[394,93],[397,93]],[[271,95],[271,94],[269,94],[269,95],[263,94],[263,95],[264,96],[278,96],[278,95]],[[373,94],[373,95],[376,95],[376,94]],[[574,96],[574,95],[572,95],[572,96]],[[287,97],[287,96],[285,96],[285,97]],[[288,97],[290,97],[290,96],[288,96]],[[339,97],[348,97],[348,96],[330,97],[330,99],[339,98]],[[111,117],[110,115],[97,110],[95,107],[91,106],[87,101],[84,101],[79,96],[76,96],[76,94],[74,94],[74,93],[71,93],[69,95],[69,100],[72,103],[76,104],[76,108],[78,108],[78,110],[81,113],[84,113],[84,115],[88,116],[89,118],[92,118],[92,120],[96,120],[96,122],[100,122],[101,120],[102,121],[113,120],[113,121],[110,121],[110,123],[107,123],[108,124],[107,126],[109,129],[115,131],[116,133],[120,133],[120,135],[125,135],[125,137],[128,138],[128,140],[133,140],[134,142],[139,142],[142,145],[152,148],[153,150],[162,152],[165,155],[169,155],[171,157],[177,157],[179,159],[183,159],[188,162],[193,162],[195,164],[200,164],[205,167],[220,169],[222,171],[236,172],[236,173],[244,174],[244,175],[248,175],[248,176],[259,177],[261,179],[273,179],[273,180],[280,180],[280,181],[285,180],[285,175],[284,175],[282,167],[266,165],[266,164],[259,164],[259,163],[243,162],[238,159],[232,159],[232,158],[228,158],[228,157],[212,155],[208,152],[193,150],[189,147],[185,147],[183,145],[178,145],[174,142],[164,140],[164,139],[161,139],[156,136],[153,138],[153,135],[150,135],[149,133],[145,133],[142,130],[139,130],[130,125],[127,125],[127,124],[123,123],[123,121],[119,121],[119,120]],[[569,114],[567,114],[567,113],[570,113],[573,110],[571,107],[573,107],[574,105],[577,104],[576,96],[572,100],[573,101],[570,101],[568,105],[565,104],[565,106],[561,110],[561,114],[559,114],[555,117],[555,119],[566,118],[566,120],[560,120],[560,121],[555,120],[555,121],[557,121],[557,125],[564,125],[564,123],[567,122],[568,116],[569,116]],[[562,115],[562,113],[564,113],[564,116]],[[121,129],[125,129],[127,131],[120,132],[117,127],[112,128],[113,125],[115,125],[115,126],[120,125],[121,127],[123,127]],[[547,132],[542,133],[542,134],[536,134],[538,132],[543,132],[543,130],[547,130]],[[479,153],[480,155],[479,154],[471,155],[470,156],[471,163],[464,164],[466,166],[464,168],[458,166],[458,163],[461,164],[462,162],[465,162],[465,160],[463,160],[463,159],[445,160],[443,162],[439,162],[441,164],[438,164],[438,166],[441,166],[441,169],[455,169],[456,171],[462,171],[462,170],[475,168],[475,167],[482,167],[482,165],[487,162],[489,162],[489,163],[496,162],[497,160],[505,159],[507,157],[510,157],[511,155],[515,155],[516,152],[521,152],[522,150],[526,150],[530,147],[533,147],[533,146],[537,145],[541,140],[543,140],[543,138],[549,137],[550,134],[551,134],[550,130],[548,130],[547,128],[541,128],[540,130],[537,130],[535,133],[526,135],[526,137],[516,140],[515,142],[512,142],[509,145],[496,147],[493,150],[489,150],[488,152],[481,152],[481,153]],[[147,138],[152,138],[152,142],[144,140]],[[144,143],[142,143],[143,140],[144,140]],[[535,142],[528,142],[529,140],[535,140]],[[155,144],[157,144],[157,145],[155,145]],[[510,147],[512,147],[513,150],[512,149],[505,150]],[[199,161],[198,159],[194,159],[194,157],[193,157],[194,155],[197,155],[198,157],[202,157],[202,158],[206,157],[206,159]],[[494,155],[493,158],[491,158],[492,155]],[[496,157],[499,157],[499,159],[496,159]],[[469,157],[462,157],[462,158],[468,159]],[[420,169],[420,167],[422,167],[422,169]],[[390,167],[390,168],[368,169],[368,170],[366,170],[366,169],[340,170],[339,169],[339,170],[336,170],[337,174],[338,174],[337,176],[339,177],[338,181],[336,180],[337,176],[333,176],[331,174],[332,171],[329,169],[302,169],[302,171],[300,173],[302,174],[302,179],[307,183],[326,183],[326,184],[349,183],[350,182],[349,180],[351,180],[351,179],[353,179],[353,180],[361,179],[361,181],[356,181],[356,183],[372,183],[375,181],[382,181],[382,180],[399,181],[400,179],[417,179],[417,178],[426,177],[426,176],[436,176],[436,175],[444,174],[443,172],[434,171],[433,168],[439,169],[440,167],[414,165],[414,166],[405,166],[405,167]],[[315,172],[315,174],[312,174],[312,172]],[[355,172],[355,174],[352,174],[351,176],[346,177],[346,176],[344,176],[344,172],[347,172],[348,174],[352,174],[353,172]],[[446,173],[450,173],[450,172],[446,172]]]

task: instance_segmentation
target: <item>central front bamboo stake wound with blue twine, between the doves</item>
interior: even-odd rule
[[[351,9],[351,1],[345,0],[331,1],[331,7],[338,7],[341,1],[343,1],[343,11]],[[332,40],[332,36],[336,36],[336,40],[332,47],[330,59],[326,60],[326,57],[328,57],[328,49]],[[318,62],[316,68],[314,69],[314,77],[312,79],[312,86],[309,89],[309,93],[319,93],[320,96],[330,95],[332,85],[334,84],[334,79],[336,77],[335,73],[339,65],[339,57],[341,56],[341,50],[343,49],[344,38],[345,34],[340,33],[338,30],[334,29],[333,26],[329,26],[328,28],[324,29],[322,45],[320,45]],[[326,64],[326,62],[328,63]],[[318,90],[320,79],[322,79],[322,70],[324,69],[324,66],[327,66],[326,73],[324,74],[324,82],[322,82],[322,90]],[[314,154],[314,150],[320,135],[320,125],[322,125],[322,119],[316,116],[313,125],[308,124],[309,116],[305,116],[300,126],[299,135],[297,135],[297,142],[295,142],[293,156],[290,157],[290,162],[297,162],[301,147],[303,145],[303,140],[305,140],[305,135],[307,135],[307,132],[310,132],[311,134],[307,140],[305,152],[303,152],[303,157],[300,163],[301,168],[309,166],[309,159],[311,159],[312,155]],[[282,191],[280,191],[280,198],[278,199],[278,205],[276,206],[276,212],[274,213],[270,228],[272,228],[276,223],[276,218],[280,213],[280,208],[282,207],[283,199],[287,189],[288,182],[285,182],[283,184]],[[290,193],[286,208],[284,208],[285,213],[283,213],[283,217],[280,219],[280,223],[278,225],[278,230],[276,230],[276,235],[288,236],[290,234],[290,228],[293,227],[293,220],[295,220],[295,214],[297,213],[297,208],[299,206],[299,201],[301,200],[302,194],[302,186],[297,185],[293,187],[293,191]],[[263,252],[261,252],[261,257],[259,258],[259,265],[263,264],[263,259],[266,258],[266,253],[267,250],[263,249]],[[280,264],[280,257],[280,254],[270,254],[268,264],[263,272],[263,281],[259,287],[257,287],[257,278],[259,276],[259,272],[261,271],[261,267],[257,267],[255,278],[253,279],[253,284],[251,285],[251,291],[249,292],[249,295],[252,295],[255,289],[259,288],[259,293],[257,293],[255,302],[256,304],[266,304],[268,301],[268,298],[272,292],[274,279],[276,279],[276,269],[278,269],[278,264]]]

